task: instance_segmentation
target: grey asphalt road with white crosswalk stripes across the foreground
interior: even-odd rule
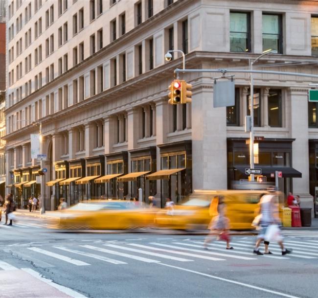
[[[3,219],[2,219],[3,223]],[[276,244],[252,254],[255,236],[202,249],[204,235],[61,232],[41,218],[0,226],[0,298],[317,297],[318,231],[288,230],[291,255]]]

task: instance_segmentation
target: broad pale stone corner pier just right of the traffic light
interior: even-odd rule
[[[212,87],[192,97],[193,189],[227,189],[226,108],[213,108]]]

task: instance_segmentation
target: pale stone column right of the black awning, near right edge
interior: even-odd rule
[[[286,110],[291,111],[290,132],[293,142],[293,167],[301,172],[301,178],[293,178],[293,192],[301,198],[301,203],[313,208],[313,198],[309,194],[309,152],[308,152],[308,89],[290,88],[286,98]]]

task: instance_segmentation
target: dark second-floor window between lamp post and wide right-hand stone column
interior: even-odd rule
[[[268,124],[272,127],[282,127],[281,90],[270,90],[268,95]]]

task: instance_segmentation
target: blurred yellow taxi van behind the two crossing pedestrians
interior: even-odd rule
[[[217,215],[218,196],[224,197],[230,229],[253,229],[251,223],[259,210],[263,190],[195,190],[185,202],[162,209],[155,218],[155,225],[168,229],[207,229]]]

